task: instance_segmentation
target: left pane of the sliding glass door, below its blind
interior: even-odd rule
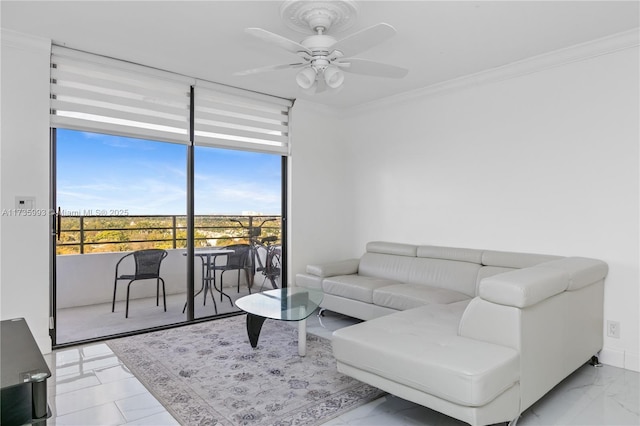
[[[186,146],[67,129],[54,135],[55,343],[183,322]],[[136,272],[125,256],[145,249],[168,253],[160,268],[166,312],[162,281],[133,282],[129,302],[130,280],[115,282],[116,273]]]

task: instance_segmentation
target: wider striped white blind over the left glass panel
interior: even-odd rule
[[[51,126],[189,143],[194,79],[53,46]]]

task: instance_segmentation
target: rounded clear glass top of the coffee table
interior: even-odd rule
[[[264,318],[301,321],[320,305],[324,293],[302,287],[278,288],[254,293],[236,300],[243,311]]]

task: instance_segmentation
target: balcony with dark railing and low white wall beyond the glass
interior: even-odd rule
[[[244,226],[234,222],[240,220]],[[280,242],[280,218],[277,216],[198,216],[195,218],[195,246],[224,247],[248,243],[248,230],[255,229],[265,219],[261,237],[275,236]],[[56,344],[99,338],[146,328],[181,323],[187,298],[186,274],[186,218],[184,216],[73,216],[63,217],[59,224],[60,239],[56,256]],[[268,226],[269,225],[269,226]],[[115,312],[111,312],[115,265],[126,253],[143,248],[164,248],[168,256],[163,260],[161,276],[165,281],[167,312],[156,306],[156,289],[152,280],[131,286],[129,318],[125,318],[126,282],[118,285]],[[67,254],[64,254],[67,253]],[[264,262],[265,251],[257,255]],[[194,259],[195,291],[202,283],[202,260]],[[221,256],[217,264],[224,264]],[[128,266],[133,268],[133,262]],[[237,271],[224,274],[224,292],[214,291],[218,314],[237,312],[235,300],[249,293],[244,274],[237,289]],[[276,284],[280,287],[280,277]],[[216,275],[220,283],[220,272]],[[256,272],[252,291],[272,288],[269,280]],[[194,299],[195,318],[216,314],[208,296]]]

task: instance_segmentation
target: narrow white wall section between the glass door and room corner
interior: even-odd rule
[[[297,100],[289,159],[289,282],[309,263],[353,256],[353,181],[338,116]]]

